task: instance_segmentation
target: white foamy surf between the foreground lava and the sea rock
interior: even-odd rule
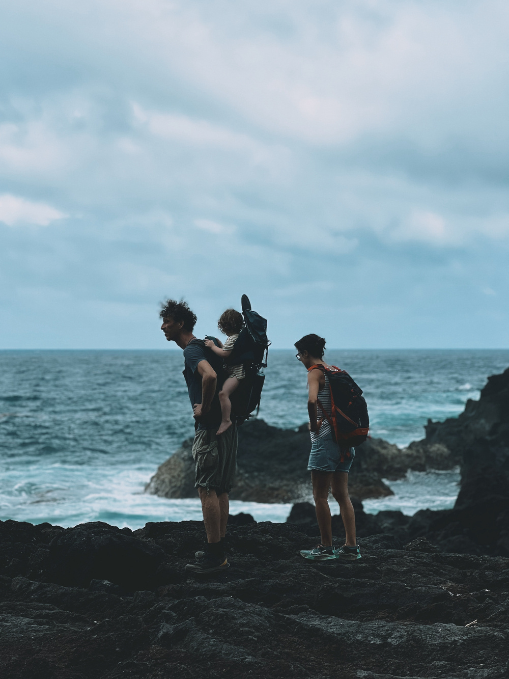
[[[18,483],[3,479],[0,513],[16,516],[18,521],[40,524],[48,521],[59,526],[75,526],[86,521],[135,530],[147,521],[200,521],[202,510],[198,498],[174,500],[145,494],[150,474],[146,469],[119,472],[110,467],[88,469],[78,476],[76,465],[51,465],[26,470],[28,478]],[[77,479],[80,483],[76,483]],[[410,472],[406,479],[388,481],[394,496],[364,500],[364,509],[376,514],[382,509],[399,509],[413,515],[419,509],[449,509],[457,496],[459,471]],[[311,491],[311,488],[309,489]],[[311,493],[310,493],[311,494]],[[330,500],[333,514],[339,513],[337,502]],[[241,502],[232,500],[230,513],[251,514],[256,521],[286,521],[291,504]]]

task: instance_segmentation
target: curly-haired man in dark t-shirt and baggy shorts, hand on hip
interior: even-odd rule
[[[229,513],[228,493],[233,486],[237,459],[237,427],[235,423],[222,434],[219,391],[225,380],[223,362],[193,335],[196,316],[183,300],[168,299],[161,313],[162,331],[168,342],[184,350],[184,377],[195,418],[193,459],[195,488],[202,501],[207,533],[205,551],[196,552],[195,564],[186,569],[210,573],[229,567],[225,557],[224,538]]]

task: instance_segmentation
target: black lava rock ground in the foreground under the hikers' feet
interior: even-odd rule
[[[2,679],[509,676],[509,559],[377,534],[360,562],[309,562],[316,526],[251,522],[229,570],[189,576],[204,538],[0,522]]]

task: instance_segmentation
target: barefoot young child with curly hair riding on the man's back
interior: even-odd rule
[[[222,333],[228,335],[228,339],[226,340],[225,344],[223,344],[218,339],[217,341],[219,342],[220,346],[216,346],[214,342],[212,342],[212,339],[206,339],[205,346],[209,349],[212,349],[214,354],[222,356],[223,359],[226,359],[233,350],[233,344],[235,344],[235,339],[237,339],[240,331],[242,330],[243,323],[244,319],[242,318],[242,314],[240,314],[238,311],[235,311],[235,309],[227,309],[224,314],[221,314],[221,318],[219,318],[219,321],[217,322],[217,327]],[[231,426],[230,396],[239,386],[239,380],[242,380],[246,377],[246,371],[244,370],[244,365],[242,365],[242,363],[239,363],[238,365],[228,365],[227,363],[224,363],[223,365],[228,377],[223,384],[223,388],[219,392],[222,420],[219,429],[216,431],[216,435],[218,436]]]

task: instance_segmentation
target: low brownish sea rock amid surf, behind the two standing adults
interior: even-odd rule
[[[263,420],[239,427],[238,469],[232,500],[300,502],[311,496],[307,460],[307,426],[278,429]],[[166,460],[147,484],[146,492],[166,498],[195,497],[193,439],[187,439]],[[383,439],[368,439],[356,449],[350,471],[350,494],[361,500],[392,495],[382,479],[400,479],[409,469],[451,469],[457,456],[440,443],[413,444],[400,450]]]

